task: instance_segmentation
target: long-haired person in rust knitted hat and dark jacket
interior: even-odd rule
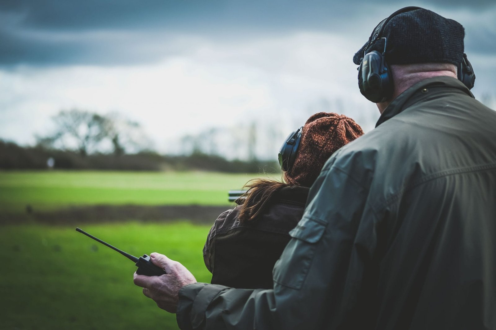
[[[326,112],[291,133],[279,153],[284,181],[249,181],[241,205],[210,229],[203,258],[212,284],[272,288],[272,268],[303,216],[310,186],[332,153],[363,134],[353,119]]]

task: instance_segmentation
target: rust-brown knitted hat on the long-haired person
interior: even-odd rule
[[[332,153],[363,134],[362,128],[350,117],[315,113],[303,126],[295,163],[284,172],[284,179],[293,185],[310,187]]]

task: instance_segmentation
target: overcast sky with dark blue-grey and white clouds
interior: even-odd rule
[[[494,107],[494,0],[1,0],[0,138],[32,144],[70,108],[121,111],[163,152],[252,118],[285,136],[326,107],[370,130],[352,57],[406,5],[465,27],[473,92]]]

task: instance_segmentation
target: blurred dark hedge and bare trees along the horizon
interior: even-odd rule
[[[275,161],[227,160],[193,149],[189,155],[159,155],[137,122],[118,113],[62,110],[54,131],[33,147],[0,140],[1,169],[209,170],[277,172]],[[107,152],[102,150],[107,149]]]

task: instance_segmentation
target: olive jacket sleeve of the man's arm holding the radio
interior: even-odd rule
[[[273,269],[270,290],[195,283],[180,291],[181,329],[334,329],[359,302],[376,245],[368,189],[328,161]],[[354,316],[357,317],[356,315]]]

